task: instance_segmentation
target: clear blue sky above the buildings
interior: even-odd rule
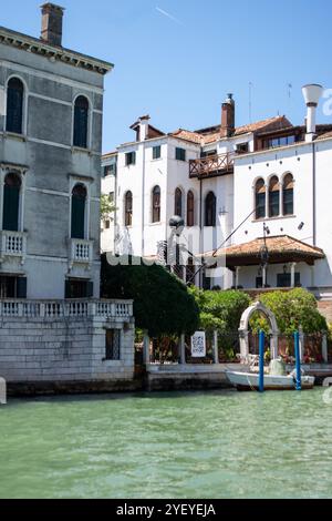
[[[0,24],[39,35],[41,3],[2,0]],[[330,0],[59,3],[66,8],[63,44],[115,64],[105,82],[104,152],[132,140],[128,126],[145,113],[167,132],[218,124],[227,92],[237,124],[248,123],[249,82],[253,120],[279,112],[294,124],[305,115],[302,84],[332,88]],[[319,121],[332,116],[320,111]]]

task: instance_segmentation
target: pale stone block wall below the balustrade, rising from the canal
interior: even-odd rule
[[[8,384],[132,381],[133,318],[1,317],[0,376]],[[121,359],[106,360],[106,329],[121,331]]]

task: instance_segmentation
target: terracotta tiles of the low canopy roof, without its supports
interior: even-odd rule
[[[267,237],[266,244],[270,255],[293,254],[311,258],[324,258],[324,252],[321,248],[311,246],[289,235],[277,235]],[[256,238],[249,243],[229,246],[219,249],[216,255],[214,252],[205,254],[206,257],[218,257],[226,255],[227,257],[259,257],[261,248],[264,246],[263,237]]]

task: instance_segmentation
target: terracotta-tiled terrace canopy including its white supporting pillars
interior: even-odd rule
[[[290,265],[290,285],[295,286],[295,267],[299,263],[313,266],[315,260],[325,257],[321,248],[311,246],[289,235],[260,237],[249,243],[218,249],[205,254],[205,258],[224,257],[228,269],[235,273],[235,286],[239,287],[239,269],[243,266],[260,266],[261,285],[267,287],[267,268],[269,265]]]

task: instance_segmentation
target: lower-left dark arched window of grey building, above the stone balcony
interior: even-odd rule
[[[9,232],[19,231],[21,184],[17,174],[8,174],[4,178],[2,228]]]

